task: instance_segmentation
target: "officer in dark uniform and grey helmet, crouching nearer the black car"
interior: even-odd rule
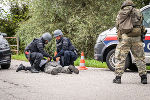
[[[45,44],[48,44],[52,39],[50,33],[44,33],[40,38],[35,38],[26,48],[25,56],[29,60],[31,67],[25,67],[22,64],[17,68],[16,72],[20,70],[30,70],[32,73],[38,73],[40,71],[39,64],[43,57],[47,57],[50,61],[50,55],[45,52]]]

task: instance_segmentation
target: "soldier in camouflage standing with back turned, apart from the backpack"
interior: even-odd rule
[[[132,24],[133,29],[132,31],[128,33],[123,33],[119,29],[120,24],[120,13],[122,10],[128,10],[132,9],[130,16],[132,18]],[[144,55],[144,48],[143,43],[141,41],[141,25],[143,16],[140,12],[140,10],[134,8],[133,2],[130,0],[124,1],[121,10],[119,11],[119,14],[116,19],[116,27],[118,30],[118,40],[119,44],[116,47],[115,51],[115,79],[113,80],[113,83],[121,84],[121,76],[124,73],[124,66],[125,66],[125,60],[126,57],[131,50],[136,65],[138,67],[139,76],[141,77],[141,83],[147,84],[147,71],[146,71],[146,63],[145,63],[145,55]],[[139,18],[139,19],[137,19]]]

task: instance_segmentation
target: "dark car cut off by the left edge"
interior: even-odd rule
[[[6,33],[0,32],[0,67],[8,69],[11,63],[11,50],[8,41],[5,39]]]

